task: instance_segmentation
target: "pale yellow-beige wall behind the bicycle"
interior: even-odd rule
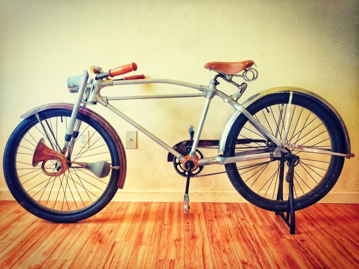
[[[275,86],[296,86],[327,99],[348,128],[359,154],[358,1],[20,1],[0,0],[0,152],[20,115],[43,103],[75,98],[66,78],[91,64],[104,68],[135,61],[148,77],[207,84],[208,61],[253,59],[259,79],[245,97]],[[227,94],[231,88],[222,87]],[[129,86],[108,95],[170,94],[176,86]],[[184,90],[192,93],[193,91]],[[244,97],[244,98],[245,98]],[[169,144],[197,126],[199,99],[118,101],[123,112]],[[214,100],[203,137],[218,138],[230,107]],[[95,111],[104,111],[100,106]],[[144,111],[146,110],[146,111]],[[153,113],[152,113],[153,112]],[[182,112],[182,114],[181,114]],[[121,137],[133,127],[103,112]],[[166,152],[139,134],[128,150],[124,194],[118,199],[178,200],[185,181]],[[158,167],[159,166],[159,167]],[[346,160],[327,201],[359,202],[359,155]],[[219,171],[211,167],[208,171]],[[0,171],[0,191],[6,184]],[[225,175],[194,179],[197,200],[238,200]],[[346,195],[342,195],[345,193]],[[344,197],[344,198],[343,198]],[[349,199],[349,200],[348,200]]]

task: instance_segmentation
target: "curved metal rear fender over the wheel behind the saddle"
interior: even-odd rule
[[[351,154],[350,153],[350,139],[349,139],[349,134],[348,134],[348,130],[345,127],[344,121],[342,120],[342,118],[340,117],[338,111],[328,102],[326,101],[323,97],[305,90],[305,89],[301,89],[301,88],[296,88],[296,87],[275,87],[275,88],[270,88],[264,91],[259,92],[258,94],[255,94],[251,97],[249,97],[248,99],[246,99],[243,103],[242,106],[243,107],[248,107],[250,104],[254,103],[255,101],[257,101],[259,98],[263,97],[263,96],[267,96],[270,94],[274,94],[274,93],[289,93],[289,92],[293,92],[293,93],[297,93],[300,95],[305,95],[308,96],[310,98],[316,99],[321,101],[325,106],[327,106],[328,109],[332,110],[333,113],[337,116],[338,121],[340,122],[340,125],[342,127],[342,132],[343,132],[343,136],[345,137],[345,154]],[[234,123],[234,121],[236,120],[236,118],[240,115],[240,111],[235,110],[232,115],[228,118],[226,124],[223,127],[222,130],[222,134],[220,135],[220,139],[219,139],[219,152],[224,151],[225,148],[225,144],[227,141],[227,136],[229,134],[229,130],[231,129],[232,124]],[[348,156],[348,158],[350,158]]]

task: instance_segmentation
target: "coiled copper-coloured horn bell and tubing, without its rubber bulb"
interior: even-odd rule
[[[50,173],[45,170],[45,163],[48,160],[56,160],[57,161],[57,168],[56,168],[56,170],[58,170],[57,172]],[[43,138],[40,139],[38,145],[36,146],[34,156],[32,158],[32,166],[35,167],[40,162],[42,162],[42,164],[41,164],[42,172],[44,174],[50,175],[50,176],[59,176],[59,175],[65,173],[65,171],[68,167],[68,162],[67,162],[66,156],[50,149],[48,146],[46,146]]]

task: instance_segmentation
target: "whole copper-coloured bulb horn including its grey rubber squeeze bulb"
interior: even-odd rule
[[[57,161],[57,167],[56,167],[56,170],[58,170],[57,172],[50,173],[45,170],[45,163],[48,160]],[[88,171],[91,171],[97,177],[100,178],[107,176],[110,173],[111,169],[119,169],[118,167],[111,168],[110,164],[106,161],[98,161],[94,163],[69,161],[67,160],[65,155],[60,154],[59,152],[54,151],[50,149],[48,146],[46,146],[43,138],[40,139],[38,145],[36,146],[34,156],[32,158],[32,166],[35,167],[40,162],[42,162],[41,164],[42,172],[50,176],[59,176],[65,173],[69,163],[79,165],[79,167],[72,167],[72,168],[87,169]]]

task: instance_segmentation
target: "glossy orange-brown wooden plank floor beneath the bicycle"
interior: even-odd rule
[[[0,268],[359,268],[359,205],[297,211],[297,234],[250,204],[112,202],[54,224],[0,201]]]

